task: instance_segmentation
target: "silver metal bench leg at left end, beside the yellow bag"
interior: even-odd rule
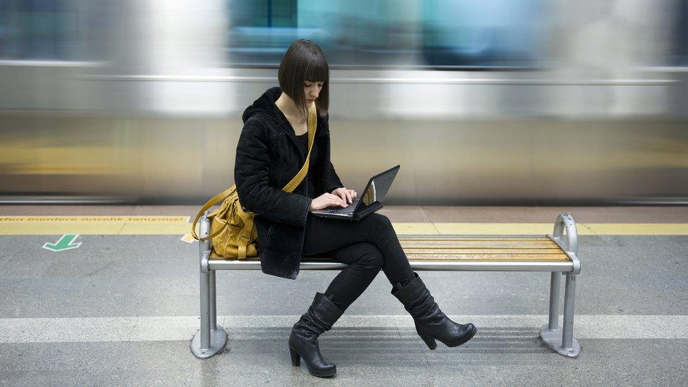
[[[209,225],[203,216],[200,235],[208,235]],[[201,327],[191,338],[191,352],[195,357],[207,359],[225,348],[227,333],[217,325],[215,303],[215,271],[208,270],[210,251],[208,244],[200,243],[200,314]]]

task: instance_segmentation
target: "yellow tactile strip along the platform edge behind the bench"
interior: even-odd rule
[[[188,216],[0,216],[0,235],[187,235]],[[545,235],[551,223],[393,223],[398,235]],[[577,223],[579,235],[688,235],[688,223]]]

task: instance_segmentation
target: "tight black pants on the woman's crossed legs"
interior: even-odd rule
[[[342,310],[366,290],[380,269],[393,285],[414,278],[392,223],[380,214],[353,222],[308,214],[302,255],[348,264],[325,291]]]

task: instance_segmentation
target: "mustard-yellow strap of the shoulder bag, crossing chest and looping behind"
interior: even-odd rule
[[[306,155],[306,162],[303,164],[301,167],[301,170],[299,173],[294,176],[290,180],[287,185],[282,188],[283,191],[285,192],[292,192],[297,188],[301,182],[303,181],[303,178],[305,178],[306,173],[308,173],[308,166],[310,164],[310,158],[311,158],[311,149],[313,149],[313,143],[315,142],[315,132],[318,128],[318,113],[317,113],[317,107],[315,104],[312,104],[310,109],[308,109],[308,154]],[[219,194],[215,195],[214,197],[211,197],[211,199],[206,202],[206,204],[203,205],[203,207],[198,211],[196,214],[196,218],[193,221],[193,225],[191,226],[191,235],[194,237],[195,240],[202,241],[202,240],[209,240],[212,238],[215,238],[219,233],[221,233],[224,228],[227,226],[227,223],[225,223],[221,228],[219,228],[218,231],[215,233],[212,233],[211,235],[208,235],[207,237],[204,238],[199,238],[198,234],[196,233],[196,224],[198,223],[198,220],[201,218],[203,213],[210,209],[210,207],[213,207],[216,202],[219,202],[220,200],[224,200],[230,195],[233,195],[234,191],[236,190],[236,184],[233,184],[230,188],[224,190],[223,192],[220,192]],[[254,224],[253,224],[253,219],[250,221],[251,223],[251,228],[253,229]],[[243,235],[242,235],[243,236]],[[239,245],[239,255],[241,257],[243,253],[243,257],[246,257],[246,243],[243,245],[240,243]]]

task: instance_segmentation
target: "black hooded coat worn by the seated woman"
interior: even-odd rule
[[[293,192],[282,188],[306,161],[289,121],[275,101],[281,89],[273,87],[244,111],[234,164],[239,202],[256,215],[262,271],[295,279],[299,274],[306,218],[312,199],[307,178]],[[318,116],[315,135],[321,154],[317,164],[316,197],[343,187],[330,161],[328,117]],[[310,169],[309,169],[310,171]]]

